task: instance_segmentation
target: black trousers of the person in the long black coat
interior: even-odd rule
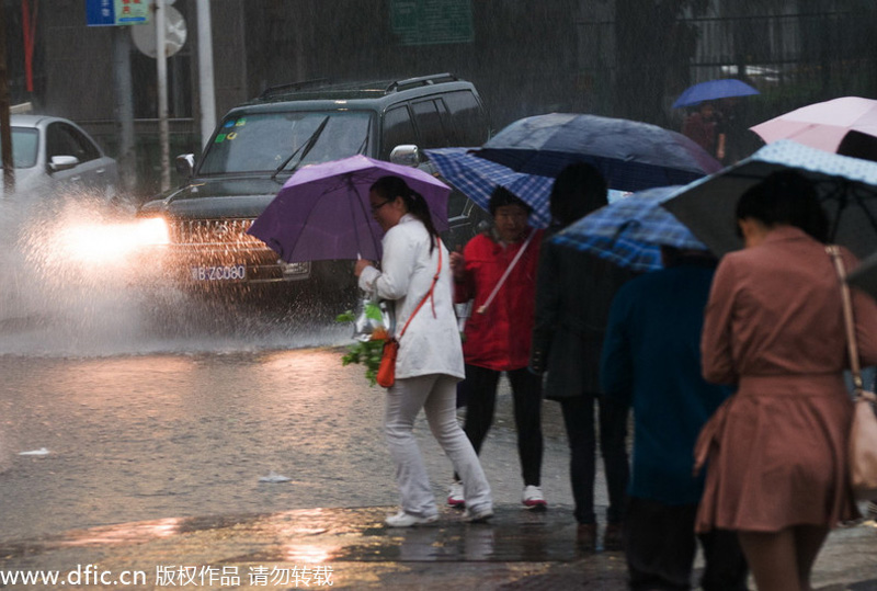
[[[606,521],[620,523],[624,518],[627,481],[630,467],[627,461],[628,408],[591,394],[560,400],[563,423],[567,428],[570,462],[569,475],[572,498],[576,501],[576,521],[595,523],[594,478],[596,475],[596,422],[600,429],[600,453],[606,471],[610,507]]]

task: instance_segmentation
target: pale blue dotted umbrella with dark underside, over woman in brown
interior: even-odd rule
[[[813,181],[831,224],[829,240],[859,259],[877,251],[877,163],[788,139],[768,144],[749,158],[687,184],[663,207],[721,257],[743,247],[736,223],[740,195],[779,170],[794,170]]]

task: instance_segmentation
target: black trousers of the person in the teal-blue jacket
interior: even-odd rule
[[[633,591],[691,589],[698,539],[706,562],[701,587],[705,591],[747,590],[749,568],[737,532],[695,534],[696,514],[696,504],[628,499],[624,543]]]

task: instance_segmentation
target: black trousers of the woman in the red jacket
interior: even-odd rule
[[[463,383],[466,400],[466,420],[463,430],[481,453],[481,444],[493,423],[497,408],[497,386],[502,372],[466,365]],[[505,372],[512,385],[514,423],[517,430],[517,455],[524,486],[540,486],[542,478],[542,376],[532,374],[526,367]],[[454,475],[457,478],[457,475]]]

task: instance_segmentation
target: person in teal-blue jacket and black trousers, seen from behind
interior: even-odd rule
[[[634,411],[634,457],[624,519],[631,590],[690,589],[699,538],[706,591],[745,591],[734,532],[695,535],[703,475],[694,444],[731,394],[701,375],[701,332],[716,260],[662,248],[664,269],[622,286],[612,303],[603,356],[604,396]]]

